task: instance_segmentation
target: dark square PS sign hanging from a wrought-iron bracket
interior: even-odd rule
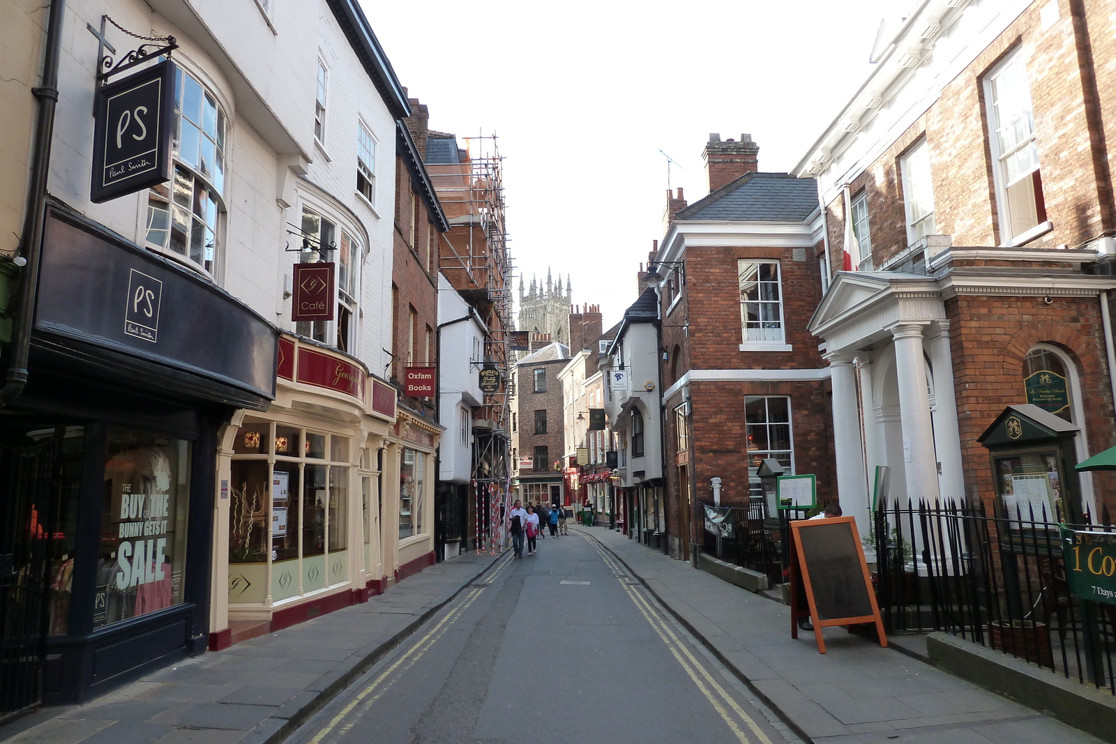
[[[167,59],[97,88],[89,189],[94,203],[171,178],[174,69]]]

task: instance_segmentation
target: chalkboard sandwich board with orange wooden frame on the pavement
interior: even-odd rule
[[[808,615],[819,654],[826,653],[822,628],[858,622],[875,622],[879,645],[887,646],[856,520],[835,516],[795,521],[790,523],[790,637],[798,638],[798,620]],[[806,597],[808,611],[800,607],[800,593]]]

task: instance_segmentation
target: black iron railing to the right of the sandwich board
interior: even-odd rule
[[[1116,606],[1070,595],[1057,518],[1040,511],[907,503],[876,512],[867,548],[884,625],[947,631],[1116,695]],[[1100,524],[1086,519],[1065,526],[1113,531],[1107,512]]]

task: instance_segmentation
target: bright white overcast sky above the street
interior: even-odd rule
[[[870,71],[881,18],[911,0],[362,0],[433,129],[497,134],[518,274],[573,280],[605,327],[636,298],[671,186],[708,191],[711,132],[789,171]]]

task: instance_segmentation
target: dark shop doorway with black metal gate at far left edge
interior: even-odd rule
[[[52,610],[68,610],[68,588],[66,606],[51,607],[62,599],[52,574],[70,558],[55,555],[56,538],[66,539],[58,532],[65,433],[48,428],[0,439],[0,722],[42,703]]]

